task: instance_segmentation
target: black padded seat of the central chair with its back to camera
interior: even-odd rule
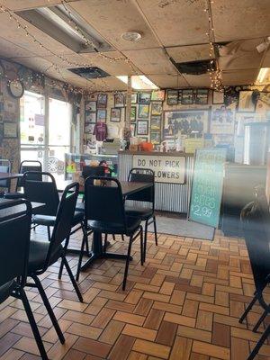
[[[103,234],[125,234],[130,236],[136,229],[139,228],[140,219],[127,217],[127,231],[121,226],[121,224],[112,224],[103,221],[88,221],[88,226],[93,231],[101,232]]]

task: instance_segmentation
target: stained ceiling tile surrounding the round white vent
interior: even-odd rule
[[[145,49],[158,46],[155,36],[132,1],[82,0],[71,3],[70,8],[75,9],[116,49]],[[137,42],[122,40],[121,34],[126,31],[139,31],[142,39]]]

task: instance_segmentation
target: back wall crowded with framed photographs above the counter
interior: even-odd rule
[[[106,102],[105,102],[106,97]],[[85,137],[94,145],[96,119],[106,121],[108,137],[121,137],[125,94],[94,94],[85,102]],[[103,116],[99,110],[103,109]],[[270,93],[255,86],[234,86],[218,93],[208,89],[160,90],[132,94],[131,131],[156,148],[184,149],[222,145],[236,148],[242,162],[244,125],[270,121]],[[89,124],[89,128],[87,127]]]

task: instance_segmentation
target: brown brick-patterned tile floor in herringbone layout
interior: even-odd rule
[[[36,237],[46,238],[43,229]],[[31,308],[52,360],[245,360],[259,334],[250,331],[262,310],[255,306],[247,324],[238,317],[251,300],[254,284],[242,239],[216,234],[214,241],[149,236],[145,266],[139,243],[133,245],[128,289],[121,291],[124,263],[97,261],[82,273],[76,294],[67,275],[58,281],[58,264],[42,275],[42,284],[65,332],[62,346],[35,290]],[[72,239],[80,245],[81,234]],[[126,252],[121,239],[110,251]],[[76,271],[77,257],[68,257]],[[262,331],[263,328],[260,329]],[[270,359],[270,342],[257,360]],[[39,359],[22,302],[0,305],[0,359]]]

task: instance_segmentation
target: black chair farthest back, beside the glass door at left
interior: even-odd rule
[[[19,167],[19,174],[24,174],[26,172],[32,172],[28,175],[28,180],[36,180],[42,181],[42,175],[40,172],[42,171],[42,165],[38,160],[23,160]],[[17,184],[14,193],[4,193],[4,197],[6,199],[21,199],[23,198],[23,177],[17,179]]]

